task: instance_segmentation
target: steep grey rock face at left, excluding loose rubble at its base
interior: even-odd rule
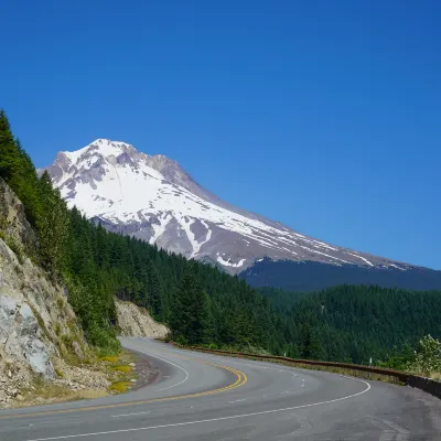
[[[0,407],[35,376],[53,380],[54,363],[90,354],[64,287],[30,259],[35,249],[24,207],[0,179]]]

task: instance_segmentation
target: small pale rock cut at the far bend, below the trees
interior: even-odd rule
[[[164,338],[169,334],[169,329],[153,320],[143,308],[118,299],[115,300],[115,305],[121,335]]]

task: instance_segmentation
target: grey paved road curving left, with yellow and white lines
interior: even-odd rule
[[[441,440],[420,390],[123,338],[158,383],[93,401],[0,412],[1,441]]]

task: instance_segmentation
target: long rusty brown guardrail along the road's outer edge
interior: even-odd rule
[[[337,363],[337,362],[318,362],[314,359],[301,359],[301,358],[289,358],[289,357],[280,357],[276,355],[257,355],[257,354],[248,354],[248,353],[238,353],[238,352],[230,352],[230,351],[220,351],[220,349],[208,349],[205,347],[198,346],[182,346],[174,342],[171,342],[176,347],[182,347],[185,349],[192,349],[197,352],[205,352],[209,354],[218,354],[218,355],[228,355],[232,357],[245,357],[245,358],[254,358],[260,361],[268,361],[268,362],[279,362],[279,363],[289,363],[292,365],[309,365],[309,366],[322,366],[322,367],[336,367],[342,369],[351,369],[351,370],[359,370],[369,374],[378,374],[384,375],[387,377],[392,377],[398,381],[406,384],[408,386],[421,389],[428,394],[433,395],[437,398],[441,399],[441,383],[430,379],[420,377],[418,375],[409,374],[401,370],[394,370],[394,369],[384,369],[380,367],[374,366],[365,366],[365,365],[354,365],[349,363]]]

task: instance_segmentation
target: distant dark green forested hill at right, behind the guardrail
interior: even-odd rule
[[[441,292],[340,286],[313,293],[261,289],[300,357],[379,363],[426,334],[441,337]]]

